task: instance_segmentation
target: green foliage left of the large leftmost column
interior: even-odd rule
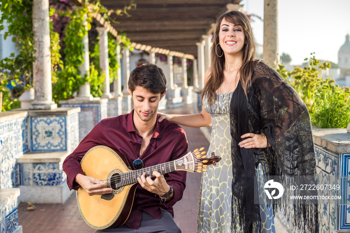
[[[4,39],[12,36],[17,53],[0,60],[2,92],[1,109],[8,110],[19,106],[18,99],[12,98],[7,83],[12,85],[30,86],[32,84],[32,65],[35,60],[32,32],[32,1],[31,0],[0,0],[0,30],[7,23]]]

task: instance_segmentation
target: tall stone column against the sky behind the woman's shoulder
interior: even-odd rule
[[[276,67],[279,61],[277,23],[278,0],[264,0],[262,59],[272,67]]]

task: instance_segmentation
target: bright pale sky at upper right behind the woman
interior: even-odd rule
[[[263,18],[263,0],[242,0],[243,11]],[[255,41],[263,44],[263,22],[253,17]],[[278,0],[278,50],[299,65],[314,52],[338,63],[338,50],[350,34],[350,0]]]

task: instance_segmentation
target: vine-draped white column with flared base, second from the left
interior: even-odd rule
[[[86,18],[86,15],[84,17]],[[87,34],[86,21],[84,21],[84,24],[85,24],[85,29],[86,29],[86,33],[85,33],[84,37],[82,38],[82,43],[84,45],[84,48],[83,48],[84,61],[79,67],[81,77],[84,77],[86,73],[88,74],[89,69],[90,69],[90,59],[89,59],[89,54],[88,54],[88,34]],[[91,92],[90,92],[90,82],[87,81],[84,84],[82,84],[81,86],[79,86],[78,95],[77,95],[76,99],[77,100],[92,100],[93,99]]]

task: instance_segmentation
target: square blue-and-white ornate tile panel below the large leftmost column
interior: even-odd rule
[[[66,118],[30,117],[31,151],[65,151]]]

